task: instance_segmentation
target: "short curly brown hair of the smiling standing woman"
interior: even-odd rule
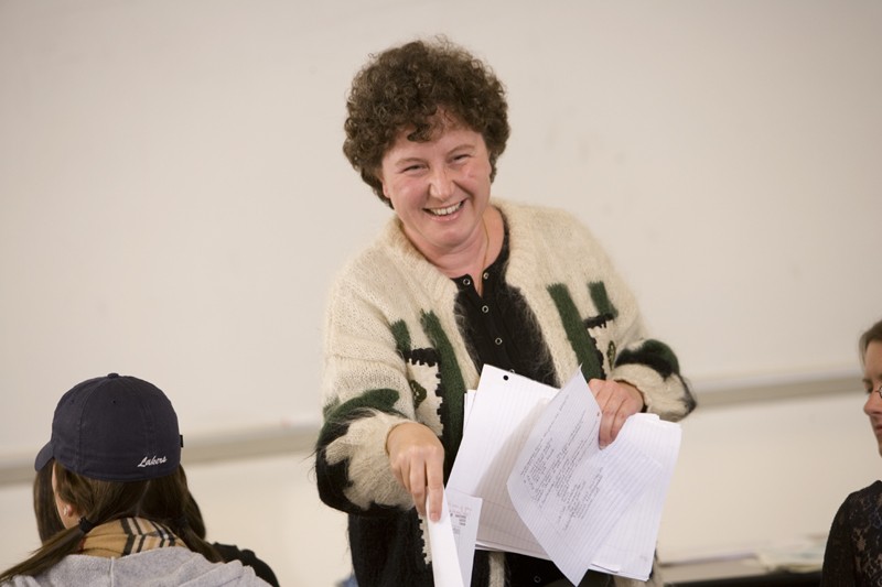
[[[484,138],[491,163],[505,151],[510,128],[505,87],[491,67],[444,36],[413,41],[372,55],[356,74],[346,100],[343,153],[381,202],[383,156],[405,129],[424,142],[441,124],[443,110]]]

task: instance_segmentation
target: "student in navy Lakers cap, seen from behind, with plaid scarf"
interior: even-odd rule
[[[181,444],[178,415],[153,384],[110,373],[71,389],[34,461],[37,471],[52,464],[64,530],[0,574],[0,583],[267,585],[250,567],[220,563],[190,529]],[[157,512],[158,503],[164,513],[148,513]]]

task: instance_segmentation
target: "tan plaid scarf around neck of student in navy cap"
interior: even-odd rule
[[[143,518],[121,518],[95,526],[83,539],[79,554],[118,558],[166,546],[186,547],[168,526]]]

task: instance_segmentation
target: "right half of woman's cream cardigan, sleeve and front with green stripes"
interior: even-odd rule
[[[647,336],[637,301],[591,230],[571,214],[506,206],[512,282],[540,316],[561,377],[626,381],[646,409],[677,421],[696,406],[674,351]],[[533,284],[538,284],[537,289]]]

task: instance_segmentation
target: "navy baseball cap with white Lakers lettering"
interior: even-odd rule
[[[141,379],[110,373],[62,395],[52,437],[34,468],[54,457],[90,479],[142,481],[174,472],[182,445],[178,414],[165,394]]]

